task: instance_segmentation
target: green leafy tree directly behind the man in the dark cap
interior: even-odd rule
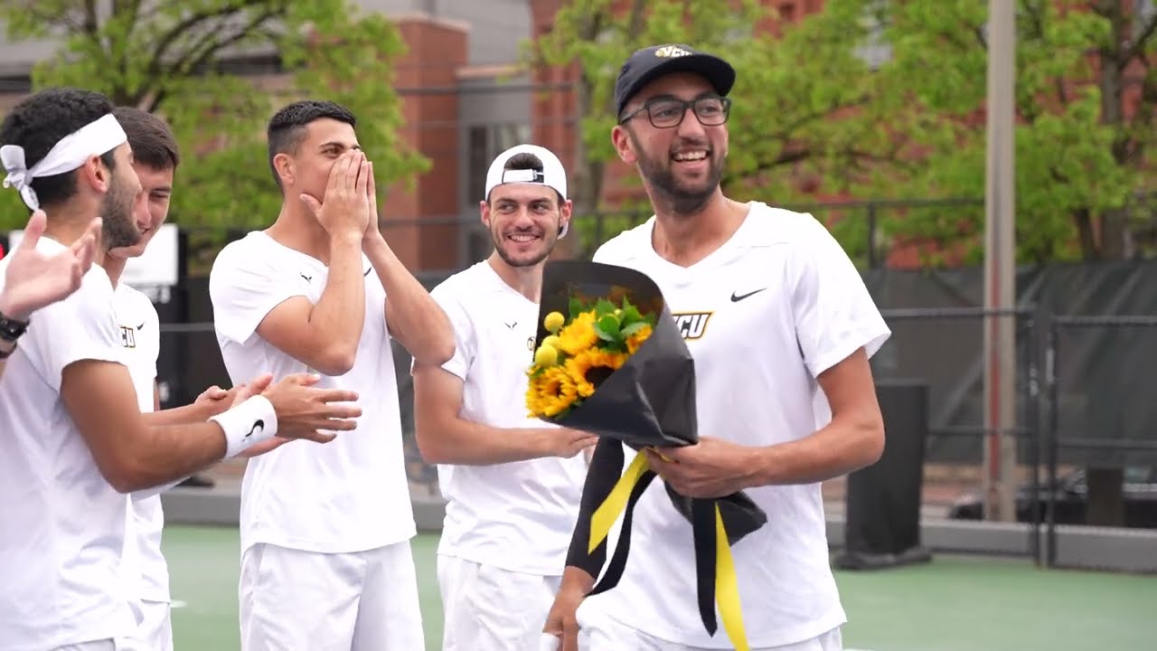
[[[902,139],[877,129],[882,111],[904,110],[875,101],[878,81],[852,44],[870,36],[870,23],[853,6],[834,6],[781,38],[760,30],[775,15],[754,0],[572,0],[558,13],[551,32],[530,44],[533,64],[577,61],[575,118],[581,125],[570,164],[575,188],[575,231],[584,249],[650,214],[646,199],[614,206],[632,214],[584,219],[610,211],[603,204],[606,163],[614,158],[613,89],[619,66],[640,47],[686,43],[728,59],[737,72],[731,92],[724,190],[775,204],[806,198],[811,180],[839,192],[868,169],[897,161]],[[833,119],[839,116],[840,119]],[[893,116],[894,117],[894,116]],[[634,182],[634,178],[632,178]],[[862,224],[834,225],[842,240],[862,253]]]

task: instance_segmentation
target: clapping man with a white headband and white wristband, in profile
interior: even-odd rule
[[[119,580],[124,492],[174,482],[272,436],[327,441],[356,409],[351,392],[297,376],[260,378],[212,420],[146,425],[125,366],[112,285],[100,264],[140,240],[145,217],[132,149],[112,103],[71,88],[25,98],[0,125],[6,186],[43,209],[36,250],[51,255],[103,217],[96,264],[81,286],[32,323],[0,319],[20,337],[0,381],[0,639],[6,651],[104,651],[134,629]],[[140,215],[140,217],[138,217]],[[0,278],[10,264],[0,261]],[[0,287],[2,293],[2,287]],[[259,395],[252,395],[258,394]]]

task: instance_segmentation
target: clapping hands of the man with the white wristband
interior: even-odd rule
[[[261,380],[264,378],[250,382],[250,386]],[[356,401],[358,394],[345,389],[315,388],[318,380],[320,375],[301,373],[260,392],[273,403],[278,415],[278,437],[330,442],[337,437],[332,432],[358,427],[354,418],[361,416],[361,408],[338,404]]]

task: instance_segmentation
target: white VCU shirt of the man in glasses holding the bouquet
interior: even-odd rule
[[[860,348],[875,353],[890,330],[820,222],[751,206],[731,239],[690,268],[655,253],[654,217],[606,242],[594,259],[642,271],[663,291],[695,359],[699,432],[769,446],[827,424],[816,378]],[[629,461],[633,451],[625,452]],[[767,513],[767,524],[732,548],[751,646],[797,643],[841,626],[820,485],[746,492]],[[621,581],[585,607],[677,644],[730,648],[722,628],[712,637],[700,621],[691,525],[659,482],[640,499],[632,536]]]

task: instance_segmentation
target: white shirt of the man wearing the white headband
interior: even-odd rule
[[[42,237],[37,250],[57,254]],[[0,286],[10,258],[0,261]],[[127,498],[96,468],[60,398],[66,367],[123,364],[112,284],[94,265],[80,288],[32,315],[0,378],[0,646],[43,651],[131,635],[120,580]]]

